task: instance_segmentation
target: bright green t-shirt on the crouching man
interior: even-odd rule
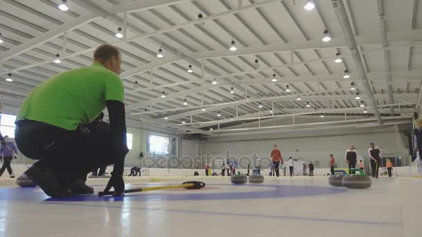
[[[106,107],[105,100],[124,102],[119,76],[94,62],[60,73],[35,87],[26,97],[17,121],[28,119],[75,130],[94,121]]]

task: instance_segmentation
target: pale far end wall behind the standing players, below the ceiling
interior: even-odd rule
[[[319,161],[316,168],[328,167],[329,155],[336,158],[338,167],[346,167],[344,153],[355,145],[357,154],[368,157],[369,142],[379,146],[384,155],[407,157],[407,140],[396,126],[382,128],[342,128],[332,130],[301,130],[299,132],[273,132],[267,134],[245,133],[235,136],[210,137],[205,141],[205,151],[213,157],[225,156],[226,150],[235,157],[269,156],[277,144],[282,157],[287,160],[304,159],[306,163]]]

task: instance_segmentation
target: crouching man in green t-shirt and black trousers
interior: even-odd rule
[[[38,161],[26,170],[51,197],[94,193],[87,173],[114,164],[105,191],[124,195],[126,123],[121,54],[112,45],[94,52],[90,67],[53,76],[35,87],[17,116],[15,141],[21,152]],[[107,107],[110,130],[92,121]]]

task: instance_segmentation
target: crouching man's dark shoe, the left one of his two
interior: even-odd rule
[[[39,162],[36,162],[31,168],[26,170],[26,176],[35,184],[38,184],[42,191],[51,198],[67,198],[71,196],[72,193],[69,189],[60,186],[54,171],[42,166]]]

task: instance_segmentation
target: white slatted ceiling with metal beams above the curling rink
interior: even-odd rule
[[[104,43],[121,49],[126,112],[133,124],[142,119],[142,123],[210,134],[205,132],[210,128],[257,126],[258,120],[304,112],[314,123],[341,121],[339,115],[344,114],[369,119],[376,116],[372,101],[382,106],[380,116],[403,119],[419,101],[422,4],[418,0],[342,1],[370,91],[329,0],[317,0],[312,11],[303,8],[305,0],[68,0],[67,12],[58,10],[60,2],[0,0],[0,100],[5,111],[15,113],[33,87],[56,73],[90,65],[92,50]],[[384,6],[379,6],[382,2]],[[387,50],[382,49],[381,8],[387,34],[384,46],[391,47]],[[137,38],[122,42],[115,33],[124,27],[124,11],[128,11],[126,37]],[[198,22],[200,12],[203,23]],[[333,37],[330,42],[321,41],[324,29]],[[62,52],[65,32],[66,52]],[[235,52],[228,50],[232,40],[238,48]],[[156,57],[160,47],[163,59]],[[334,62],[337,52],[343,57],[341,63]],[[53,62],[56,53],[61,64]],[[258,69],[253,65],[257,58]],[[189,64],[193,73],[186,71]],[[343,78],[346,69],[351,78]],[[391,72],[391,91],[386,71]],[[4,80],[7,73],[12,73],[13,82]],[[277,82],[271,82],[273,74]],[[218,78],[217,85],[210,83],[213,78]],[[357,86],[355,92],[350,90],[351,82]],[[289,93],[287,85],[292,89]],[[231,87],[235,94],[229,93]],[[166,98],[160,98],[162,91]],[[356,92],[362,99],[355,100]],[[385,106],[390,103],[389,93],[394,114]],[[250,101],[244,100],[246,94]],[[362,113],[361,100],[368,114]],[[307,102],[312,108],[305,107]],[[264,107],[258,107],[260,103]],[[275,117],[269,113],[271,107]],[[181,126],[183,119],[186,124]]]

